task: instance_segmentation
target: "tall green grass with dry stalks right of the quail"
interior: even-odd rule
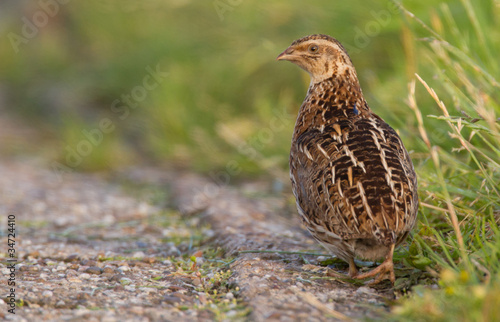
[[[430,25],[400,6],[423,57],[409,85],[416,117],[421,220],[406,263],[434,276],[392,310],[396,320],[500,317],[500,12],[441,4]],[[462,16],[462,18],[460,18]],[[466,19],[463,19],[463,16]],[[419,84],[417,86],[417,84]]]

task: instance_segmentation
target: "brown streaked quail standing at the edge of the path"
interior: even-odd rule
[[[302,222],[356,279],[395,281],[393,253],[415,224],[417,177],[401,138],[366,103],[344,47],[294,41],[277,60],[311,76],[295,123],[290,178]],[[384,261],[360,273],[355,258]]]

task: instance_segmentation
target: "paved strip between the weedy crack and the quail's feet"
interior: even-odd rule
[[[236,190],[190,177],[175,187],[180,196],[191,196],[176,198],[181,200],[180,209],[185,213],[204,209],[204,220],[217,236],[214,242],[229,255],[237,255],[231,281],[251,307],[251,320],[376,319],[385,312],[384,302],[393,298],[391,289],[345,282],[345,275],[317,265],[324,258],[269,252],[324,253],[300,228],[295,210],[290,211],[283,197],[272,197],[265,184]],[[246,253],[258,250],[266,253]]]

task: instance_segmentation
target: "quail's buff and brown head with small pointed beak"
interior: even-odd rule
[[[311,75],[312,83],[346,72],[356,77],[354,66],[344,47],[335,38],[326,35],[298,39],[276,59],[298,65]]]

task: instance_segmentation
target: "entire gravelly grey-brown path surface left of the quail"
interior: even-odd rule
[[[0,319],[359,320],[380,317],[392,298],[336,278],[317,266],[325,258],[246,253],[323,252],[267,183],[220,187],[156,169],[125,171],[120,184],[76,173],[59,181],[26,160],[0,161],[0,174]],[[134,185],[124,189],[123,181]],[[180,212],[153,201],[167,200],[163,194]],[[15,315],[7,305],[7,215],[16,218]],[[203,270],[217,247],[228,264]]]

